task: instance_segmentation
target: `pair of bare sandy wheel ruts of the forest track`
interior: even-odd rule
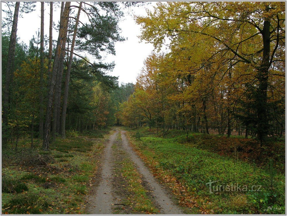
[[[120,140],[117,139],[118,134],[121,135],[121,145],[116,145],[120,142]],[[116,146],[120,146],[121,149],[116,149]],[[135,168],[141,175],[144,188],[151,192],[151,201],[157,209],[160,210],[160,214],[183,214],[179,206],[171,199],[171,192],[156,181],[150,170],[144,165],[142,159],[133,151],[123,130],[116,130],[116,132],[110,136],[109,142],[104,150],[101,164],[102,168],[100,168],[99,171],[100,176],[97,178],[97,184],[88,197],[88,213],[115,213],[115,205],[121,205],[117,204],[117,202],[124,200],[125,193],[129,193],[128,191],[124,191],[121,185],[118,185],[122,177],[120,173],[115,173],[117,163],[120,159],[119,157],[121,157],[118,155],[121,155],[120,152],[122,151],[125,152],[128,159],[135,165]],[[124,212],[124,214],[133,213],[131,209],[126,209],[126,212]]]

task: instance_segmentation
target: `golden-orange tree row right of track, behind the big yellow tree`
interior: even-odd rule
[[[193,59],[192,53],[199,52],[202,43],[189,48],[177,46],[166,55],[152,53],[146,59],[135,92],[120,107],[120,122],[131,127],[162,128],[163,135],[169,129],[185,130],[187,136],[190,131],[230,136],[236,130],[238,135],[251,135],[261,142],[255,70],[245,63],[223,65],[215,57],[212,63],[195,65],[198,58]],[[268,120],[268,135],[282,136],[284,70],[273,69],[272,73],[277,75],[269,76],[267,103],[273,108],[267,111],[273,119]]]

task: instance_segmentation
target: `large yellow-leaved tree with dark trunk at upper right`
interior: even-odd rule
[[[187,78],[187,89],[193,89],[190,93],[196,89],[189,86],[201,86],[200,98],[189,97],[184,103],[202,101],[207,133],[206,114],[211,106],[227,119],[226,125],[220,121],[221,132],[227,127],[230,136],[235,121],[238,126],[245,122],[262,146],[273,133],[271,107],[282,105],[282,97],[274,98],[273,84],[285,76],[284,17],[282,2],[169,2],[158,3],[153,13],[137,17],[137,22],[142,25],[141,39],[152,41],[155,48],[159,49],[166,37],[171,40],[169,62]],[[211,105],[211,99],[218,98],[218,88],[219,99],[225,101],[219,110]],[[245,101],[241,103],[245,108],[238,109],[243,98],[252,102]],[[235,113],[239,110],[241,113]]]

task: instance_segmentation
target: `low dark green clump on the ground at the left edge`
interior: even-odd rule
[[[7,176],[2,178],[2,192],[4,193],[21,193],[27,190],[28,186],[23,182],[16,181]]]

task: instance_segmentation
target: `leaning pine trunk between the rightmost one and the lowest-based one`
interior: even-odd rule
[[[66,41],[67,41],[67,32],[68,32],[68,22],[69,18],[65,20],[64,23],[64,35],[62,41],[62,49],[60,54],[61,65],[58,68],[57,80],[55,85],[55,97],[54,97],[54,106],[53,106],[53,125],[52,125],[52,140],[55,140],[56,134],[60,134],[60,113],[61,113],[61,89],[62,89],[62,78],[64,70],[64,59],[65,59],[65,50],[66,50]]]

